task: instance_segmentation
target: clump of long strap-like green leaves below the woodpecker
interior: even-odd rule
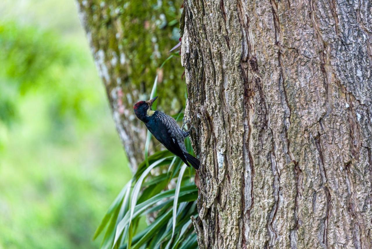
[[[148,162],[150,166],[143,162],[112,203],[94,238],[108,226],[101,248],[196,248],[196,234],[190,221],[191,215],[198,215],[195,171],[184,175],[187,166],[169,151],[151,155]],[[170,189],[164,191],[164,186]],[[149,214],[155,215],[155,219],[141,231],[138,221]]]

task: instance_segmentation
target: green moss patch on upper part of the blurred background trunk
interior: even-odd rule
[[[88,1],[86,18],[92,31],[93,46],[105,50],[106,59],[110,60],[112,54],[125,58],[125,66],[121,63],[110,65],[113,68],[109,67],[109,73],[113,79],[120,78],[122,83],[134,85],[143,97],[148,97],[159,65],[179,42],[182,3],[182,0]],[[167,113],[183,107],[183,71],[179,60],[171,60],[160,70],[161,87],[157,94],[161,98],[158,104]],[[115,86],[114,82],[112,87]]]

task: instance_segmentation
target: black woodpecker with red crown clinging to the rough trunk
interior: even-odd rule
[[[153,111],[151,106],[156,98],[137,102],[133,107],[134,113],[165,148],[181,158],[187,166],[190,163],[192,167],[199,170],[200,161],[186,151],[184,140],[190,135],[190,131],[183,131],[173,117],[161,111]]]

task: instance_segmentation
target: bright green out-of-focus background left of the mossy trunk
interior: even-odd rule
[[[0,248],[97,248],[131,178],[72,0],[0,4]]]

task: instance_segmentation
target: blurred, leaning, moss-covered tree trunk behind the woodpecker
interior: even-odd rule
[[[170,55],[171,47],[179,42],[181,3],[179,0],[166,3],[77,0],[77,6],[116,128],[135,170],[144,160],[147,130],[135,118],[133,105],[148,100],[158,67]],[[167,113],[174,114],[172,110],[177,112],[183,107],[182,73],[179,60],[167,62],[159,73],[158,103]],[[159,148],[154,145],[150,151]]]

